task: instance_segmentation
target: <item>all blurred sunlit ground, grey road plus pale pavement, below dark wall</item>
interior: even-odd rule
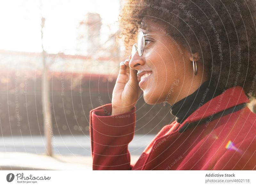
[[[136,135],[129,144],[135,163],[154,135]],[[43,136],[0,138],[0,170],[92,170],[90,136],[54,136],[53,157],[45,155]]]

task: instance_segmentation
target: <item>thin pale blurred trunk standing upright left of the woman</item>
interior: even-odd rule
[[[42,72],[42,109],[44,118],[44,136],[46,138],[46,153],[52,156],[52,115],[51,115],[51,103],[50,103],[50,89],[48,80],[48,66],[46,64],[45,50],[43,46],[43,29],[44,29],[45,18],[41,18],[41,43],[42,43],[42,61],[43,61],[43,72]]]

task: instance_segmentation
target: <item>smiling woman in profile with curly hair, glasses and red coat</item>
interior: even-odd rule
[[[128,0],[120,15],[129,59],[112,104],[90,112],[94,170],[255,170],[255,0]],[[134,44],[137,43],[137,44]],[[171,105],[130,164],[136,102]]]

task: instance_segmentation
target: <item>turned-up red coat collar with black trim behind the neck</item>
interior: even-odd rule
[[[186,129],[202,122],[210,122],[231,112],[241,110],[248,102],[249,99],[245,95],[244,89],[240,86],[223,90],[222,94],[214,97],[188,116],[180,124],[178,131],[184,132]]]

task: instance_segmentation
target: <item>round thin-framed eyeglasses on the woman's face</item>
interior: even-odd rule
[[[135,43],[132,46],[132,56],[134,56],[137,50],[138,50],[139,56],[142,56],[145,49],[145,36],[147,35],[168,35],[168,34],[144,34],[143,31],[140,31],[138,35],[138,43]]]

